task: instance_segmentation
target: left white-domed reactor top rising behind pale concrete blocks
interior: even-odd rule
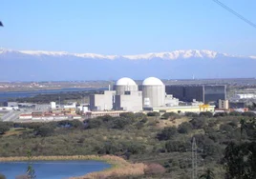
[[[138,85],[131,78],[124,77],[117,80],[114,85],[114,90],[116,90],[117,95],[121,95],[124,94],[125,91],[137,91]]]

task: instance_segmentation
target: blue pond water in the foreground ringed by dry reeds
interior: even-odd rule
[[[27,167],[28,162],[0,163],[0,173],[7,179],[15,179],[26,174]],[[108,169],[111,165],[99,161],[34,161],[32,167],[37,179],[63,179]]]

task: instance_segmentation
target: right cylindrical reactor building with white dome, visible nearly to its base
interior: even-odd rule
[[[143,108],[155,108],[165,106],[165,86],[160,79],[146,78],[142,83]]]

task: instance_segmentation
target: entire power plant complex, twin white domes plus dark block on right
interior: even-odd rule
[[[225,99],[225,86],[165,87],[156,77],[146,78],[139,88],[134,80],[123,77],[117,80],[113,89],[106,90],[103,94],[91,95],[90,109],[98,112],[108,110],[137,112],[143,109],[179,113],[214,111],[214,105],[204,105],[203,101],[212,101],[216,98],[217,102],[219,99]],[[188,102],[183,103],[180,98]],[[101,114],[102,112],[99,112],[98,115]]]

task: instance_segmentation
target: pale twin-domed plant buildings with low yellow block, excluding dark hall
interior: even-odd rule
[[[167,87],[168,88],[168,87]],[[193,100],[183,103],[171,91],[165,92],[165,85],[159,78],[148,77],[138,84],[131,78],[117,80],[113,90],[90,96],[92,111],[158,111],[158,112],[200,112],[214,111],[215,106],[205,105],[203,101]]]

